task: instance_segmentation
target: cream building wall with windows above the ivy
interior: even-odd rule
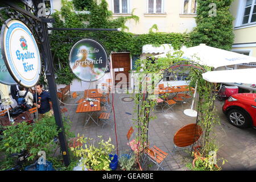
[[[159,32],[190,32],[196,27],[196,0],[106,0],[113,18],[133,12],[139,22],[128,20],[126,26],[134,34],[147,34],[156,24]],[[51,11],[60,10],[61,0],[44,0]],[[98,1],[99,2],[99,1]]]

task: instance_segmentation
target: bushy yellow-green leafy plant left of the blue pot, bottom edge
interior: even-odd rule
[[[97,146],[94,145],[95,140],[92,138],[84,138],[77,135],[77,142],[82,143],[82,146],[71,147],[71,151],[76,157],[81,158],[80,166],[82,170],[85,167],[90,171],[108,171],[110,170],[109,164],[111,162],[109,154],[114,150],[114,145],[111,144],[111,138],[108,141],[101,139],[102,136],[98,136],[100,142]],[[93,140],[93,143],[90,141]]]

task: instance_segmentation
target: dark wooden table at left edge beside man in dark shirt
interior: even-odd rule
[[[19,114],[16,117],[12,117],[14,119],[14,125],[20,123],[20,122],[32,122],[33,117],[28,111],[25,111],[21,114]],[[11,122],[9,121],[9,117],[0,117],[0,125],[2,126],[11,126]]]

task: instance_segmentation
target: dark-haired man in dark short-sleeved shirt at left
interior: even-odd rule
[[[43,85],[36,85],[36,93],[34,94],[34,105],[38,107],[39,117],[38,119],[43,118],[45,115],[52,115],[53,111],[51,110],[51,97],[48,92],[42,90]],[[37,102],[36,102],[37,99]]]

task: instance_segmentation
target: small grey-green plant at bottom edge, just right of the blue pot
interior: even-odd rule
[[[133,170],[133,166],[135,164],[136,156],[134,154],[127,155],[123,154],[118,159],[119,166],[123,171],[131,171]]]

